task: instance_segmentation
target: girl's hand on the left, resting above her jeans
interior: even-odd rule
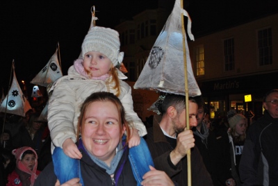
[[[65,142],[63,142],[63,151],[64,153],[69,156],[70,158],[81,159],[82,154],[80,153],[79,149],[77,149],[76,144],[72,141],[72,139],[67,138]]]

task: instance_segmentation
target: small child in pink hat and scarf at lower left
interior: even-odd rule
[[[40,174],[40,171],[37,171],[37,153],[35,153],[35,150],[31,147],[24,146],[13,150],[13,155],[15,155],[15,158],[17,159],[16,167],[15,170],[9,174],[6,186],[33,186],[35,179]]]

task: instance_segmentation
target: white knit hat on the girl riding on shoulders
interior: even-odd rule
[[[113,62],[114,67],[124,58],[124,53],[120,52],[119,33],[111,28],[92,27],[82,43],[82,58],[88,51],[103,53]]]

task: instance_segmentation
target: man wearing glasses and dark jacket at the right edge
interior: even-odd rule
[[[263,97],[263,117],[247,131],[239,172],[243,185],[278,185],[278,89]]]

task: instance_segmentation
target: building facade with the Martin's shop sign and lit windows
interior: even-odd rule
[[[278,88],[278,14],[197,37],[188,46],[212,117],[232,108],[262,115],[263,95]]]

